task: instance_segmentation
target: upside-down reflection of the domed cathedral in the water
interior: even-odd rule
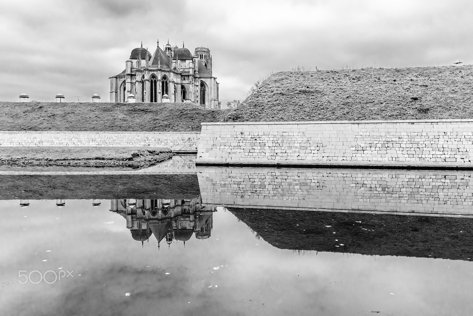
[[[193,199],[120,199],[110,201],[110,211],[126,219],[126,227],[135,240],[143,242],[151,235],[158,243],[165,239],[170,245],[174,240],[189,240],[195,233],[197,239],[210,237],[212,211],[201,206],[201,196]]]

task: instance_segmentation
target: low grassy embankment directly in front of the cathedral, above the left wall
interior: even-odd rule
[[[0,102],[0,131],[200,132],[230,110],[193,103]]]

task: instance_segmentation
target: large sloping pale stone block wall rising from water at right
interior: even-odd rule
[[[473,166],[473,120],[202,123],[197,163]]]

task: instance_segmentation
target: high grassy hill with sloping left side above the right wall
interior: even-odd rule
[[[473,118],[473,65],[283,71],[228,122]]]

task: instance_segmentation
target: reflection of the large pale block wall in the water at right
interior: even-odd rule
[[[203,204],[473,215],[473,172],[197,167]]]

